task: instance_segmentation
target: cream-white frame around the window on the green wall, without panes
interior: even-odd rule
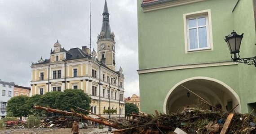
[[[207,47],[190,50],[188,20],[191,18],[200,18],[200,17],[206,17]],[[183,14],[183,24],[184,24],[185,53],[213,50],[211,9]]]

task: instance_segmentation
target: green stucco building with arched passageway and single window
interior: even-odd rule
[[[137,0],[141,111],[210,109],[194,93],[225,111],[236,105],[239,113],[256,109],[256,67],[233,62],[224,41],[233,30],[244,33],[240,58],[256,55],[255,5],[256,0]]]

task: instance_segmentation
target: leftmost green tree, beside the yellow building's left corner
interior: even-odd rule
[[[26,100],[28,96],[14,96],[7,101],[7,113],[12,113],[14,117],[27,117],[29,115],[28,109],[26,109]]]

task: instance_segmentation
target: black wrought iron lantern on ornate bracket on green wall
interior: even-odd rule
[[[245,63],[247,65],[254,65],[256,67],[256,56],[250,58],[240,58],[240,46],[243,39],[243,34],[238,35],[233,30],[233,32],[225,36],[225,42],[227,42],[230,49],[231,59],[234,62]],[[234,55],[234,56],[233,56]]]

